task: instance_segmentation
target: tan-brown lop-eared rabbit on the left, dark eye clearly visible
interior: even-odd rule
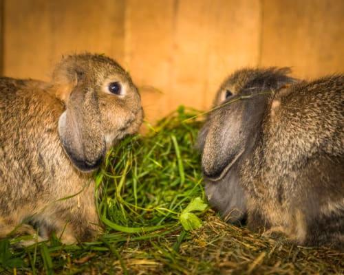
[[[94,239],[92,171],[142,116],[129,74],[103,55],[63,58],[50,83],[0,78],[0,237],[30,221],[42,239]]]

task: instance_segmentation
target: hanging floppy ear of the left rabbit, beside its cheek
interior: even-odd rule
[[[76,84],[66,100],[66,110],[58,120],[58,135],[76,168],[94,170],[105,155],[98,98],[87,80]]]

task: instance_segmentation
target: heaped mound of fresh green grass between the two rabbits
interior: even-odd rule
[[[186,122],[195,114],[180,107],[150,126],[144,137],[128,137],[112,148],[96,176],[105,190],[98,209],[109,228],[127,233],[171,230],[184,221],[182,211],[192,199],[204,210],[200,157],[194,149],[200,122]],[[184,227],[197,227],[192,221]]]

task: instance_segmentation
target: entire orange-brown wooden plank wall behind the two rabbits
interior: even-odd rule
[[[3,74],[48,80],[62,54],[104,53],[131,73],[148,120],[208,108],[240,67],[344,71],[343,0],[1,1]]]

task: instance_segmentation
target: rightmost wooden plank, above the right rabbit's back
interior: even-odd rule
[[[263,0],[260,65],[300,78],[344,71],[344,1]]]

